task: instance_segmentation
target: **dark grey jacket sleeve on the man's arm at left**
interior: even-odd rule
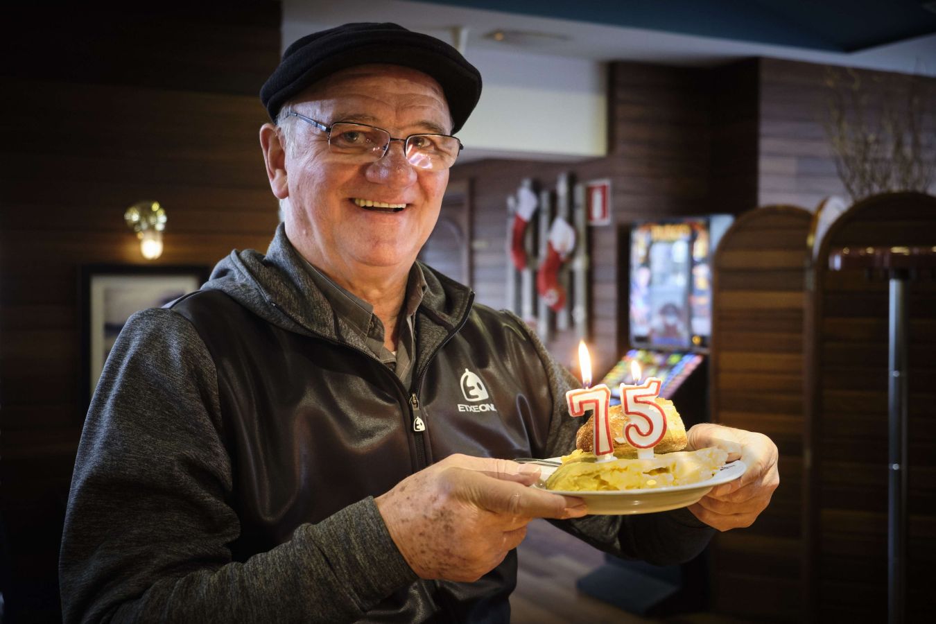
[[[170,310],[135,314],[81,435],[59,566],[66,622],[352,621],[416,579],[371,498],[233,561],[223,441],[195,329]]]

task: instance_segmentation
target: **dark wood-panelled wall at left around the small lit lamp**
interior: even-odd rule
[[[61,621],[57,559],[82,414],[79,268],[203,265],[277,223],[257,92],[280,11],[5,9],[0,36],[0,400],[10,621]],[[124,210],[168,211],[154,262]]]

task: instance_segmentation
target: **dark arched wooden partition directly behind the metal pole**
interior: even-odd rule
[[[886,621],[888,283],[829,269],[843,247],[936,246],[936,197],[873,196],[829,227],[808,294],[805,615]],[[906,286],[909,477],[907,621],[929,613],[936,565],[936,280]],[[919,620],[922,621],[922,620]]]

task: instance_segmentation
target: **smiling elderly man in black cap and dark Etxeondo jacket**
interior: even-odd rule
[[[750,470],[663,514],[582,517],[507,460],[574,446],[574,380],[516,316],[416,261],[480,88],[395,24],[285,52],[260,129],[285,223],[114,346],[66,516],[67,622],[507,621],[534,517],[675,562],[767,506],[776,447],[734,429],[690,441]],[[459,410],[466,387],[487,411]]]

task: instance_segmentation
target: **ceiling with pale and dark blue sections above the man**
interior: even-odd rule
[[[936,76],[936,0],[284,0],[283,5],[285,35],[344,22],[388,21],[461,42],[468,51],[669,65],[768,56]]]

